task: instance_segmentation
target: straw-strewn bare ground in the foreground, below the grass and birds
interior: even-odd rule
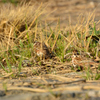
[[[95,77],[96,69],[93,67],[91,69],[94,74],[89,75]],[[0,79],[0,99],[91,100],[91,98],[100,98],[100,80],[86,80],[86,77],[86,70],[71,70],[68,63],[58,67],[56,65],[25,67],[20,73],[17,68],[13,68],[13,72],[5,73]]]

